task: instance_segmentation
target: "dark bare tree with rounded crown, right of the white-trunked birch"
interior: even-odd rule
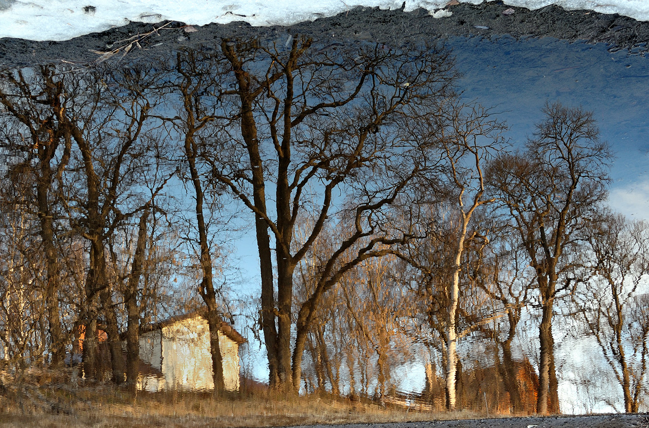
[[[541,300],[537,412],[548,414],[559,412],[554,302],[574,284],[569,273],[579,262],[571,258],[571,249],[579,245],[578,232],[588,227],[591,212],[606,197],[611,154],[599,139],[593,113],[548,104],[543,114],[526,152],[498,157],[489,177],[536,272]]]

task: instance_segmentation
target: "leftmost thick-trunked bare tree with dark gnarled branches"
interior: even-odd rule
[[[23,171],[29,169],[29,176],[34,179],[36,207],[23,208],[34,210],[39,220],[38,234],[45,253],[44,297],[51,365],[60,367],[66,351],[58,299],[61,275],[55,223],[56,192],[60,188],[55,181],[60,179],[69,161],[70,141],[57,120],[64,109],[65,89],[55,77],[55,67],[41,66],[33,73],[29,78],[22,71],[7,71],[0,76],[0,103],[8,113],[2,146],[9,155],[6,164],[21,159]]]

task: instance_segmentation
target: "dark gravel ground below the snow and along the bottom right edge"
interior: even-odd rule
[[[284,41],[288,34],[312,36],[317,43],[376,41],[398,46],[406,41],[425,41],[444,36],[489,38],[508,34],[515,38],[554,37],[589,43],[608,43],[612,51],[633,54],[649,51],[649,22],[630,17],[604,15],[587,10],[564,10],[546,6],[537,10],[510,7],[493,1],[480,5],[466,3],[447,7],[452,16],[435,19],[425,10],[378,10],[354,8],[334,17],[317,19],[291,27],[251,27],[247,23],[211,24],[187,27],[185,23],[158,25],[131,23],[102,33],[93,33],[69,41],[29,41],[0,39],[0,68],[30,67],[44,63],[72,63],[78,66],[106,62],[125,65],[142,60],[158,60],[178,49],[212,49],[221,38],[258,38]],[[511,10],[513,13],[511,13]],[[503,12],[506,14],[503,14]],[[163,27],[164,26],[164,27]],[[163,28],[160,28],[163,27]],[[156,28],[159,28],[156,30]],[[188,31],[189,30],[189,31]],[[195,30],[195,31],[194,31]],[[135,43],[137,41],[137,43]],[[130,49],[125,49],[130,47]],[[99,52],[99,53],[98,53]],[[316,428],[328,425],[316,425]],[[434,421],[417,423],[352,424],[345,428],[649,428],[649,416],[643,414],[606,414],[595,416],[554,416],[548,418],[505,418],[482,420]]]

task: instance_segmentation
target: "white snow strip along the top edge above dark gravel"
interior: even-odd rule
[[[435,17],[449,0],[407,0],[406,11],[425,8]],[[483,0],[459,0],[482,3]],[[489,0],[487,0],[489,1]],[[67,40],[120,27],[130,21],[165,20],[192,25],[247,21],[251,25],[291,25],[334,16],[354,6],[396,9],[403,0],[0,0],[0,38]],[[553,3],[567,9],[618,13],[649,21],[649,0],[506,0],[512,6],[537,9]]]

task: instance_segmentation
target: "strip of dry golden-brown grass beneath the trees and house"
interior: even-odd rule
[[[23,387],[0,394],[0,427],[230,428],[315,423],[409,422],[480,418],[470,412],[419,412],[332,398],[271,396],[215,400],[210,394],[140,393],[114,387]]]

